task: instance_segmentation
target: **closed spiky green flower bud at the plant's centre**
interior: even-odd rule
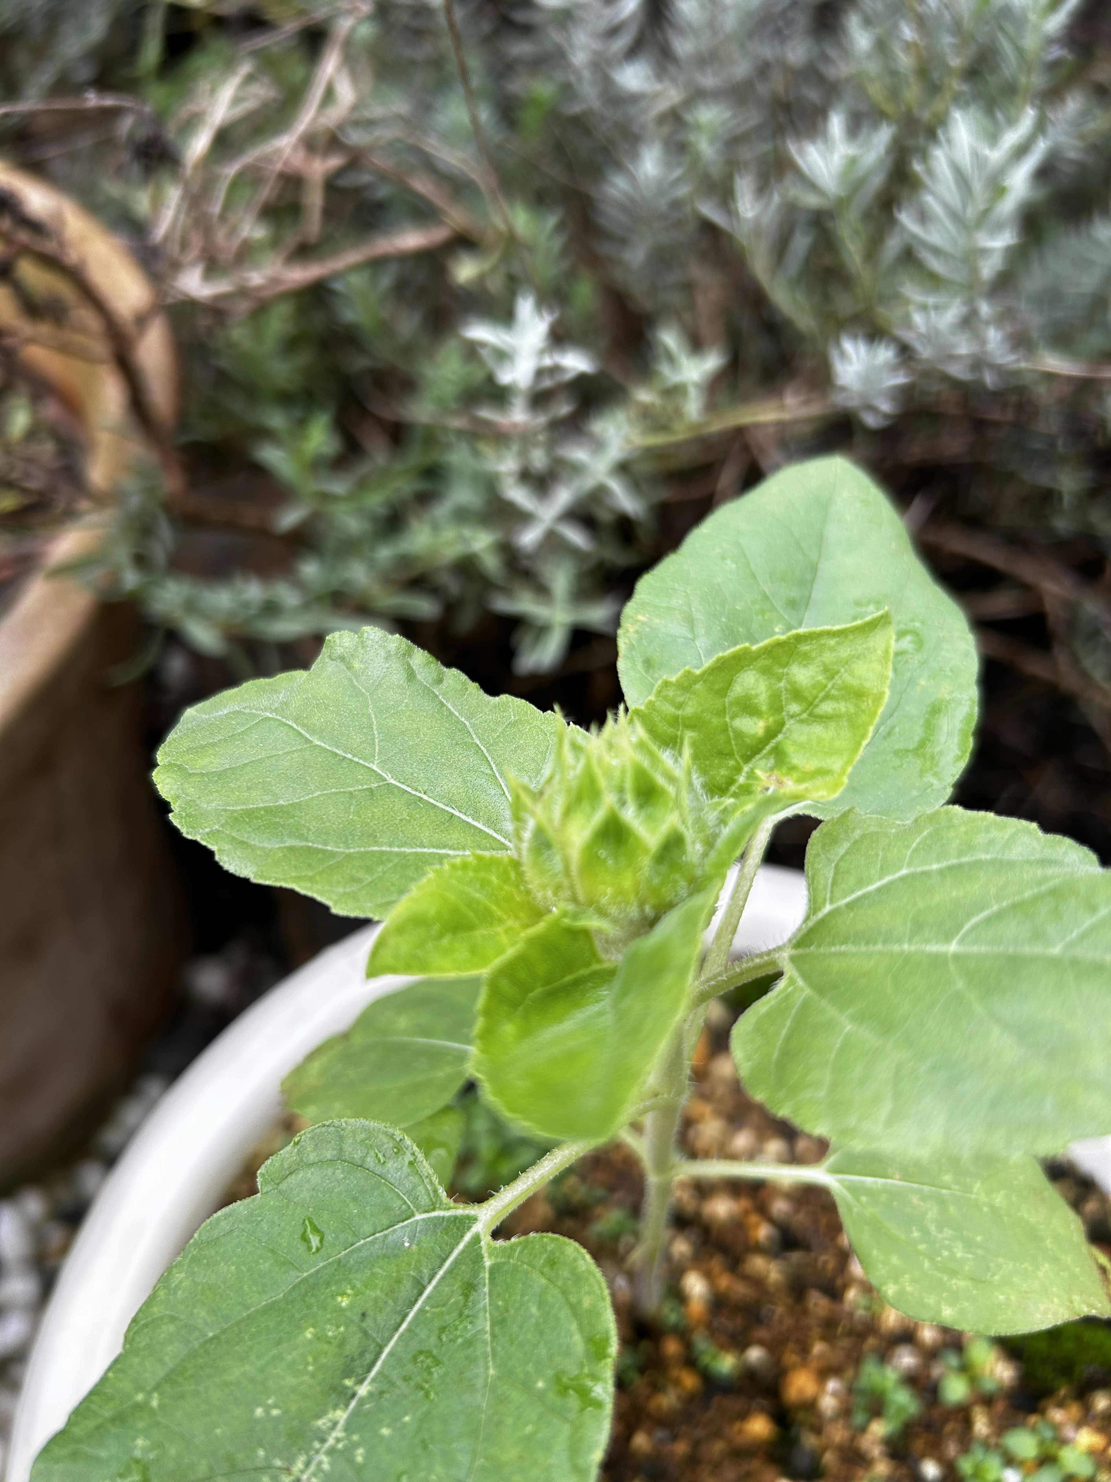
[[[713,828],[690,762],[624,713],[591,734],[567,726],[539,787],[516,784],[513,805],[536,901],[601,917],[615,950],[699,883]]]

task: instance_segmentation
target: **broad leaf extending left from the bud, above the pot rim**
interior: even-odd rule
[[[535,785],[560,725],[363,628],[333,633],[308,671],[188,710],[154,781],[227,868],[385,916],[433,865],[510,851],[507,778]]]

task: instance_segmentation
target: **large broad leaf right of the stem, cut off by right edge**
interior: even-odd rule
[[[748,1091],[850,1147],[1049,1154],[1111,1132],[1111,874],[1032,824],[847,814],[806,857],[784,980],[733,1030]]]

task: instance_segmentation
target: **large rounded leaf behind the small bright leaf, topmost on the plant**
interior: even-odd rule
[[[972,745],[976,651],[960,609],[918,562],[898,513],[843,458],[785,468],[705,519],[637,582],[618,633],[625,697],[739,643],[887,609],[887,702],[835,814],[914,818],[945,802]]]

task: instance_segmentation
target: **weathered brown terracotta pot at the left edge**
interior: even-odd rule
[[[0,249],[10,252],[6,225],[68,255],[93,299],[132,326],[135,368],[169,427],[169,328],[126,249],[58,191],[0,165]],[[49,313],[36,320],[28,302]],[[21,253],[0,283],[0,329],[81,433],[93,499],[110,499],[145,439],[93,301],[56,262]],[[141,692],[110,680],[138,648],[138,621],[52,574],[95,539],[65,531],[0,621],[0,1183],[74,1135],[132,1071],[187,947]]]

